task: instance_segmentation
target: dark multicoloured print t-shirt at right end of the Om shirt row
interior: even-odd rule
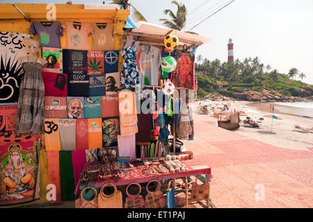
[[[102,141],[103,147],[118,146],[118,135],[120,135],[120,121],[118,118],[102,119]]]

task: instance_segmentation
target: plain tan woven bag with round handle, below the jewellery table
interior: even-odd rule
[[[113,187],[113,194],[104,194],[104,187]],[[109,182],[101,187],[98,196],[98,208],[123,208],[122,192],[113,183]]]

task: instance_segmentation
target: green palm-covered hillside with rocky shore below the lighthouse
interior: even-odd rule
[[[299,78],[305,74],[291,68],[288,74],[280,74],[271,66],[264,65],[259,58],[246,58],[243,62],[197,58],[195,73],[198,80],[198,98],[219,93],[235,99],[252,101],[307,101],[313,99],[313,85]],[[223,89],[220,89],[223,85]],[[255,94],[257,96],[253,97]]]

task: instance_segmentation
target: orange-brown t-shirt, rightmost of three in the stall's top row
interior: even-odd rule
[[[92,23],[93,50],[113,50],[113,24]]]

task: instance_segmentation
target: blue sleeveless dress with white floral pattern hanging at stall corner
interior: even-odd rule
[[[126,49],[122,48],[120,53],[124,62],[122,65],[120,86],[122,88],[134,88],[135,85],[139,84],[139,71],[136,62],[136,51],[131,49],[136,41],[133,41]]]

